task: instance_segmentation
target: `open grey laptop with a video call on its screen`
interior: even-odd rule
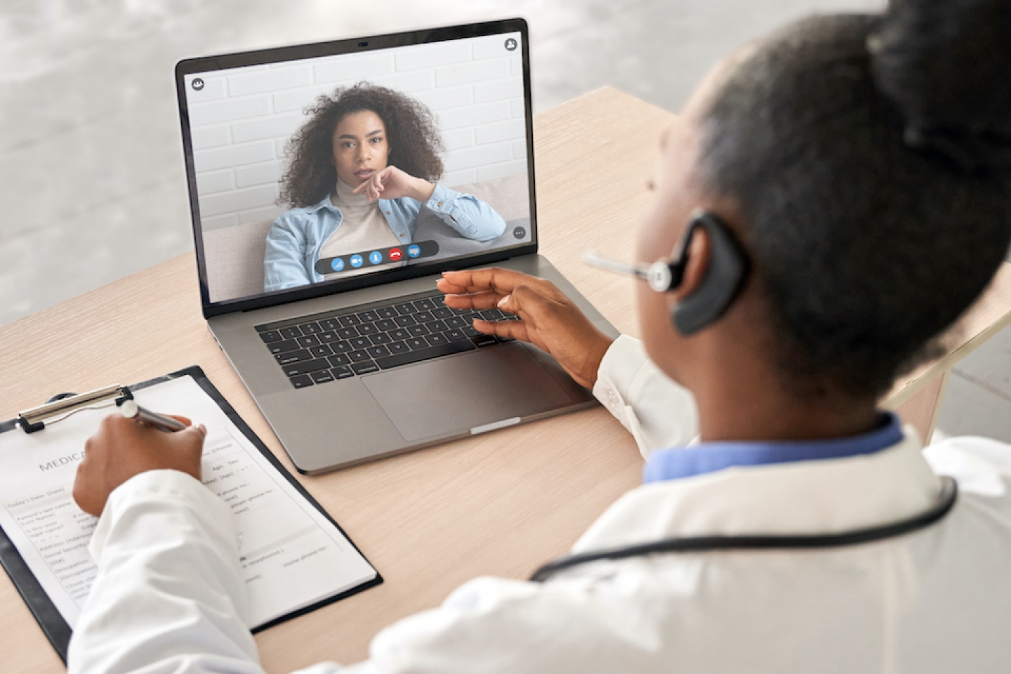
[[[618,334],[537,252],[528,45],[509,19],[176,66],[203,314],[302,473],[594,404],[436,290],[497,265]]]

